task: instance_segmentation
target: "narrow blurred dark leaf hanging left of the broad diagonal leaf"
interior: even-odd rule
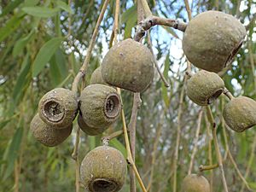
[[[20,70],[20,74],[15,84],[15,88],[13,92],[13,99],[15,103],[17,103],[17,101],[19,100],[20,95],[23,91],[23,88],[26,84],[26,76],[29,73],[29,69],[30,69],[29,54],[26,54],[26,57],[24,58],[24,61],[22,63],[22,68]]]

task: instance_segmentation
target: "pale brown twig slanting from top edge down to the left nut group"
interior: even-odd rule
[[[99,15],[99,18],[96,22],[96,27],[93,31],[93,34],[92,34],[92,37],[90,39],[90,44],[89,44],[89,48],[87,50],[87,55],[85,57],[85,60],[84,60],[84,63],[82,65],[82,67],[80,67],[80,70],[79,70],[79,73],[77,74],[77,76],[74,78],[73,80],[73,84],[72,84],[72,90],[75,94],[78,93],[78,89],[79,89],[79,81],[84,77],[85,75],[85,72],[86,72],[86,69],[88,67],[88,64],[89,64],[89,61],[90,61],[90,55],[91,55],[91,52],[92,52],[92,49],[94,47],[94,44],[96,42],[96,37],[97,37],[97,34],[99,32],[99,27],[101,25],[101,22],[102,22],[102,19],[103,19],[103,16],[104,16],[104,13],[107,9],[107,6],[108,6],[108,3],[109,3],[109,0],[106,0],[103,4],[103,7],[102,7],[102,10],[101,10],[101,13]]]

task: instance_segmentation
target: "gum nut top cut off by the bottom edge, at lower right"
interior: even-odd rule
[[[183,179],[183,192],[210,192],[206,177],[190,174]]]

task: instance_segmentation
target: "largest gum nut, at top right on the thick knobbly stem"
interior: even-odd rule
[[[189,21],[183,51],[195,67],[218,73],[232,61],[245,36],[245,27],[234,16],[207,11]]]

